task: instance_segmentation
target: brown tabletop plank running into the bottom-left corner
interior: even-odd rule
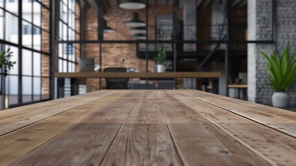
[[[21,156],[55,138],[109,102],[120,98],[121,95],[121,93],[116,93],[101,97],[0,137],[0,165],[10,165]]]

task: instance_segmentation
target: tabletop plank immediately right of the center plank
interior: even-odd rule
[[[270,165],[183,102],[157,99],[185,165]]]

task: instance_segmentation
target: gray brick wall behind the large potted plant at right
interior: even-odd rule
[[[261,51],[282,54],[290,41],[290,51],[296,48],[296,1],[277,0],[276,44],[248,44],[248,98],[251,102],[271,105],[273,89],[268,83],[268,74]],[[248,39],[272,39],[272,0],[248,0]],[[291,104],[296,104],[296,84],[289,91]]]

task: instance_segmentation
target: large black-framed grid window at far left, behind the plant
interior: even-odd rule
[[[49,0],[0,0],[0,49],[17,62],[6,77],[10,106],[50,98],[49,18]]]

